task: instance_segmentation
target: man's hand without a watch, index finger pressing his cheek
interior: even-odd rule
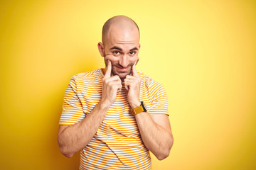
[[[119,76],[111,76],[112,64],[107,61],[107,71],[102,79],[102,98],[100,103],[111,106],[117,98],[117,92],[122,89],[122,81]]]

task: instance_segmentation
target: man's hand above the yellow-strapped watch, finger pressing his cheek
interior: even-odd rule
[[[128,91],[127,100],[132,108],[137,108],[141,104],[139,101],[141,79],[135,65],[136,63],[132,66],[132,75],[127,75],[124,79],[124,87]]]

